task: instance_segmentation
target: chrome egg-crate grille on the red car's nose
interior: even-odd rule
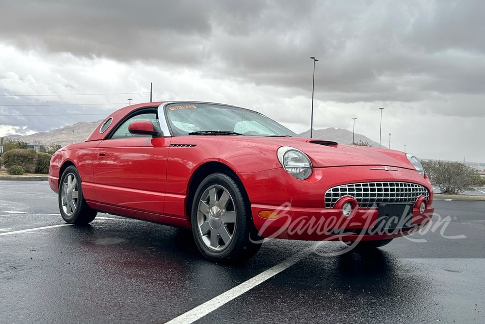
[[[381,203],[414,203],[418,197],[429,198],[425,187],[409,182],[363,182],[341,185],[327,190],[325,208],[333,208],[345,196],[354,197],[360,208],[371,208]]]

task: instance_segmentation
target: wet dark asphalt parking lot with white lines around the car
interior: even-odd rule
[[[267,240],[241,265],[113,215],[67,225],[43,181],[0,181],[1,323],[485,323],[485,202],[370,254]]]

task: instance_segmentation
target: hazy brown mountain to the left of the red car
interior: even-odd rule
[[[101,120],[85,122],[81,121],[74,125],[67,125],[63,128],[54,129],[49,132],[39,132],[32,135],[8,135],[4,139],[19,140],[28,144],[40,143],[42,145],[67,144],[83,142],[99,125]]]

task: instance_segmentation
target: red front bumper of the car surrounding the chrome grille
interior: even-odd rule
[[[312,176],[305,181],[295,180],[285,174],[286,171],[279,170],[242,175],[259,235],[263,238],[301,240],[381,240],[412,234],[431,220],[435,208],[427,178],[416,171],[401,168],[393,172],[381,171],[378,173],[380,177],[376,178],[370,170],[369,166],[314,169]],[[376,205],[369,201],[362,204],[363,200],[358,195],[346,193],[331,205],[325,205],[328,189],[367,182],[417,184],[426,188],[428,194],[424,197],[418,193],[416,200],[405,201],[408,205],[406,218],[410,221],[406,222],[406,226],[394,228],[380,227],[383,215],[379,217],[378,206],[390,204],[385,199],[376,200]],[[267,188],[271,190],[264,190]],[[346,201],[353,202],[352,213],[348,217],[342,212]],[[397,204],[402,201],[394,199],[391,202]],[[420,210],[422,202],[425,205]]]

